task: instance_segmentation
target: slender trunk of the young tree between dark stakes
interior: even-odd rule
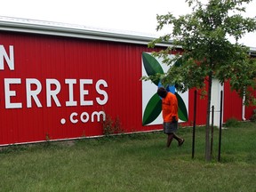
[[[207,116],[205,127],[205,160],[211,161],[211,145],[210,145],[210,112],[211,112],[211,100],[212,100],[212,73],[209,75],[208,82],[208,100],[207,100]]]

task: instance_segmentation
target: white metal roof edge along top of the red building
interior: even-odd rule
[[[70,36],[131,44],[148,44],[156,38],[154,36],[117,33],[107,29],[89,29],[79,25],[69,25],[43,20],[25,20],[2,16],[0,17],[0,30],[52,36]],[[156,45],[166,47],[170,46],[171,43],[160,43]]]

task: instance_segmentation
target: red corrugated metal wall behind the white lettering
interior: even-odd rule
[[[141,53],[152,51],[147,45],[14,32],[1,32],[0,44],[4,45],[6,52],[13,45],[15,59],[14,70],[7,68],[5,62],[4,70],[0,70],[0,145],[99,136],[102,126],[100,122],[92,122],[94,111],[104,111],[113,120],[119,117],[125,132],[162,128],[161,124],[142,126],[141,123]],[[11,97],[11,102],[22,103],[22,108],[5,108],[6,78],[20,79],[20,84],[10,85],[10,90],[16,93],[16,96]],[[30,78],[42,85],[42,91],[37,95],[42,108],[36,106],[35,100],[32,100],[31,108],[27,107],[26,81]],[[50,79],[60,83],[57,95],[60,106],[53,99],[52,107],[46,106],[46,81]],[[66,106],[70,91],[68,84],[65,84],[67,79],[76,80],[72,95],[77,106]],[[87,92],[83,96],[84,100],[92,101],[93,105],[81,106],[79,84],[84,79],[90,82],[84,84]],[[108,87],[100,84],[100,90],[108,94],[108,102],[104,105],[98,104],[96,100],[105,97],[102,92],[97,92],[96,84],[100,79],[108,84]],[[36,90],[35,84],[31,84],[31,87],[32,91]],[[55,89],[56,86],[52,84],[51,90]],[[206,99],[200,100],[200,95],[197,97],[196,124],[205,124]],[[230,116],[241,116],[241,106],[232,105],[237,100],[233,92],[225,89],[224,121]],[[188,102],[189,116],[185,124],[191,125],[194,90],[189,91]],[[77,114],[76,124],[69,120],[74,112]],[[85,115],[82,117],[88,118],[86,123],[80,118],[83,113]],[[60,123],[62,119],[66,120],[65,124]]]

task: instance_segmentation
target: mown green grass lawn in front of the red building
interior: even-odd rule
[[[163,132],[74,142],[12,146],[0,152],[0,191],[256,191],[256,123],[214,130],[212,162],[204,161],[204,127],[180,128],[165,148]]]

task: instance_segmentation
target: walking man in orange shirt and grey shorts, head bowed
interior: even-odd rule
[[[172,92],[167,92],[164,87],[159,87],[157,94],[162,98],[162,113],[163,113],[163,126],[164,133],[167,134],[166,147],[169,148],[172,139],[178,141],[180,147],[184,143],[184,139],[175,134],[178,130],[178,100]]]

